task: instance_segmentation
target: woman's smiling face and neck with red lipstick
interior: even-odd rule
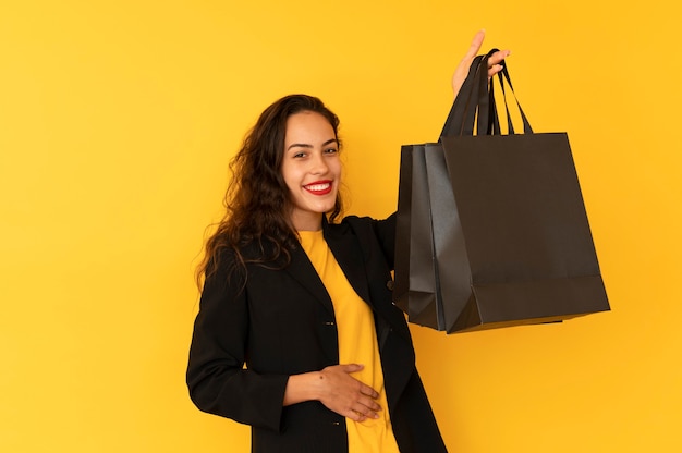
[[[322,215],[334,207],[341,179],[339,142],[325,117],[310,111],[289,117],[282,175],[294,206],[294,228],[319,230]]]

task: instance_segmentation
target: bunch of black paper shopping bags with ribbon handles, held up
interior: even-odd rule
[[[511,88],[507,68],[499,81]],[[519,111],[525,133],[507,113],[500,135],[478,57],[440,142],[402,147],[394,299],[411,322],[451,333],[610,309],[568,136]]]

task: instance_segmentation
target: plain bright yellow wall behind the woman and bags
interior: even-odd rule
[[[231,152],[277,97],[320,96],[343,121],[352,210],[389,213],[400,145],[437,138],[479,27],[513,50],[535,128],[569,132],[612,311],[413,328],[446,441],[681,451],[680,7],[289,3],[0,3],[0,451],[247,451],[184,387]]]

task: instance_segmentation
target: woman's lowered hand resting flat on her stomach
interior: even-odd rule
[[[334,365],[321,371],[289,377],[284,391],[284,406],[317,400],[327,408],[355,421],[379,418],[379,393],[353,378],[351,374],[363,365]]]

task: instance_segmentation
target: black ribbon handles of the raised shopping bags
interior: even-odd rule
[[[472,62],[468,74],[452,103],[440,134],[441,137],[474,135],[474,125],[476,125],[476,135],[501,134],[499,113],[495,100],[495,77],[488,81],[488,59],[497,51],[498,49],[491,49],[485,56],[477,56]],[[509,134],[514,134],[515,130],[509,111],[506,86],[509,87],[519,108],[524,133],[532,134],[531,123],[514,93],[507,62],[502,61],[500,64],[502,64],[502,70],[498,73],[498,79],[504,101]]]

